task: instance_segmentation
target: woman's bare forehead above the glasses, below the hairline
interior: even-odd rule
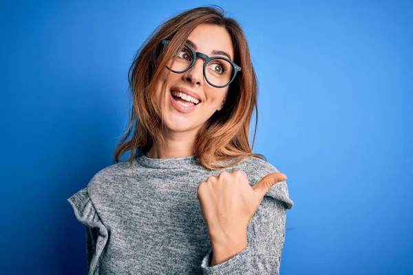
[[[218,50],[229,53],[231,58],[234,56],[231,36],[224,27],[201,24],[193,29],[188,39],[195,44],[197,52],[211,55]]]

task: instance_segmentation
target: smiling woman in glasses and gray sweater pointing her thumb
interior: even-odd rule
[[[249,146],[257,81],[240,25],[209,7],[173,17],[129,84],[116,163],[68,199],[89,274],[278,274],[293,201],[286,175]]]

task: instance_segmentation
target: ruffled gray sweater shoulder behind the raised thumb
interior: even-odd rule
[[[258,157],[250,157],[244,162],[232,167],[231,170],[243,170],[248,176],[251,186],[257,184],[263,177],[271,173],[279,173],[279,170],[270,162]],[[290,199],[286,181],[279,181],[267,193],[271,197],[284,203],[286,208],[293,208],[294,202]]]

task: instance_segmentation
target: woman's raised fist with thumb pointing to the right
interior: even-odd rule
[[[262,199],[271,187],[286,179],[283,173],[271,173],[251,187],[246,173],[235,170],[233,173],[222,171],[202,181],[198,186],[198,200],[213,250],[229,245],[238,245],[237,250],[242,250],[240,242],[245,248],[246,228]]]

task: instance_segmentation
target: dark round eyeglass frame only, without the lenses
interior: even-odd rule
[[[162,43],[162,50],[164,50],[165,47],[167,47],[167,45],[169,44],[169,42],[171,42],[171,41],[168,40],[168,39],[163,39],[163,40],[161,41],[161,43]],[[193,50],[193,48],[190,47],[190,46],[187,45],[187,44],[185,44],[185,47],[188,47],[189,50],[190,50],[191,53],[192,53],[192,56],[194,56],[194,58],[192,58],[192,63],[191,63],[191,65],[189,65],[189,67],[188,67],[187,69],[185,69],[184,71],[181,71],[181,72],[175,71],[175,70],[169,68],[168,66],[166,66],[167,69],[169,69],[169,71],[174,72],[174,73],[176,73],[176,74],[183,74],[184,72],[187,72],[189,69],[191,69],[191,67],[193,67],[193,65],[195,64],[197,58],[200,57],[200,58],[204,59],[204,61],[205,61],[205,62],[204,62],[204,65],[203,65],[203,68],[204,68],[204,69],[203,69],[204,78],[205,78],[205,80],[207,80],[207,83],[208,83],[209,85],[211,85],[212,87],[215,87],[215,88],[224,88],[224,87],[230,85],[230,84],[233,82],[233,80],[235,79],[235,76],[237,75],[237,73],[242,71],[242,68],[241,68],[240,66],[236,65],[235,63],[233,63],[233,61],[229,60],[228,58],[225,58],[225,57],[223,57],[223,56],[211,56],[211,57],[209,57],[209,56],[207,56],[207,54],[202,54],[202,52],[195,52],[195,50]],[[207,68],[207,64],[209,63],[209,61],[212,61],[212,60],[214,60],[214,59],[224,59],[224,61],[227,61],[227,62],[231,63],[231,65],[232,65],[233,68],[234,68],[233,77],[231,78],[231,80],[229,81],[229,83],[227,83],[226,85],[223,85],[223,86],[213,85],[212,83],[209,82],[207,76],[205,75],[205,69]]]

